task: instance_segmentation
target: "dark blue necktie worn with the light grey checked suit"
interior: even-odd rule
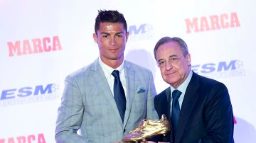
[[[124,122],[124,113],[126,108],[124,88],[122,87],[122,83],[119,78],[119,71],[114,70],[112,72],[112,75],[114,76],[114,101],[116,101],[119,114],[122,118],[122,122]]]

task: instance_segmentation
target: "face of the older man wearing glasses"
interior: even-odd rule
[[[190,55],[183,56],[178,42],[167,42],[156,51],[156,62],[159,63],[161,76],[174,88],[180,86],[191,70]]]

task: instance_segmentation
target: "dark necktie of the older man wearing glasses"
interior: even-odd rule
[[[172,105],[171,105],[171,123],[173,125],[173,136],[175,137],[177,125],[178,125],[178,115],[180,113],[180,107],[178,103],[178,98],[181,96],[181,91],[174,90],[172,93]]]

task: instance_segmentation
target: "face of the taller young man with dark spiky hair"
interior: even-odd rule
[[[93,38],[98,44],[102,62],[105,64],[112,60],[122,62],[128,35],[123,23],[100,23],[97,35],[93,34]]]

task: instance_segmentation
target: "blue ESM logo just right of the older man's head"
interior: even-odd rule
[[[240,60],[232,60],[230,62],[206,63],[191,66],[191,69],[197,74],[208,76],[210,78],[221,78],[228,76],[243,76],[245,70],[242,69]]]

